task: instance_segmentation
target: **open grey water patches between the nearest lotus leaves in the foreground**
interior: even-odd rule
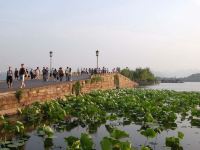
[[[130,125],[122,125],[121,120],[118,121],[107,121],[106,124],[114,125],[117,128],[126,131],[129,133],[129,138],[124,138],[123,141],[130,141],[132,145],[137,149],[141,149],[141,145],[144,145],[147,142],[147,138],[142,136],[138,130],[140,130],[141,126],[136,124]],[[191,127],[190,122],[185,120],[181,122],[181,120],[177,120],[177,129],[176,130],[164,130],[161,134],[154,139],[148,140],[146,144],[150,145],[154,150],[165,150],[165,138],[169,136],[177,136],[177,132],[181,131],[185,134],[184,139],[181,141],[181,145],[184,150],[199,150],[200,147],[200,134],[199,128]],[[64,141],[65,137],[75,136],[80,137],[81,133],[86,133],[86,128],[82,128],[81,126],[77,126],[71,131],[65,132],[55,132],[55,136],[53,139],[53,147],[51,149],[55,150],[66,150],[67,144]],[[25,149],[27,150],[44,150],[44,144],[42,137],[37,136],[36,131],[30,133],[31,137],[25,145]],[[94,146],[96,150],[101,150],[100,141],[105,136],[109,136],[108,131],[105,128],[105,125],[101,125],[97,132],[92,134],[92,139],[94,142]]]

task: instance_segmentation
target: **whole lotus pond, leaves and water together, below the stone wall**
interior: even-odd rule
[[[0,149],[199,150],[200,93],[119,89],[1,116]]]

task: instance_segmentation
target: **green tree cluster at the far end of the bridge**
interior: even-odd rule
[[[120,73],[132,81],[138,82],[139,85],[151,85],[156,83],[156,77],[151,72],[150,68],[136,68],[135,70],[125,68],[122,69]]]

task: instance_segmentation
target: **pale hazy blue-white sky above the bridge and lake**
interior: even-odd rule
[[[200,72],[200,0],[0,0],[0,71],[8,66],[150,67]]]

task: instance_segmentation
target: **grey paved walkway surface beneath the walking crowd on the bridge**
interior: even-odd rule
[[[85,80],[85,79],[89,79],[89,78],[90,78],[90,75],[88,75],[88,74],[83,74],[80,76],[72,76],[73,81]],[[67,81],[65,81],[65,78],[63,78],[62,82],[53,81],[52,79],[49,80],[48,82],[44,82],[43,80],[35,80],[35,79],[34,80],[25,80],[26,88],[41,87],[41,86],[45,86],[45,85],[54,85],[54,84],[59,84],[59,83],[64,83],[64,82],[67,82]],[[19,87],[20,87],[20,81],[17,81],[17,80],[13,81],[13,87],[10,89],[8,89],[6,82],[0,82],[0,93],[16,91],[17,89],[19,89]]]

